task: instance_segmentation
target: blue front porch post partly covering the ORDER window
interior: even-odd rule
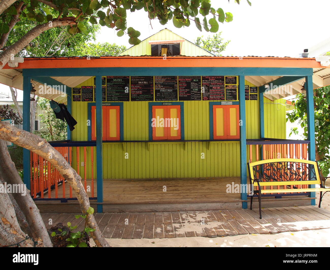
[[[102,155],[102,77],[95,78],[96,111],[96,184],[97,202],[103,202],[103,155]],[[97,212],[103,212],[103,205],[97,205]]]

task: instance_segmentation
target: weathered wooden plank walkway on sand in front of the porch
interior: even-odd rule
[[[75,214],[43,213],[47,228],[71,222],[82,230],[84,222]],[[242,234],[276,234],[287,231],[330,228],[330,211],[315,206],[187,212],[96,213],[106,238],[223,237]]]

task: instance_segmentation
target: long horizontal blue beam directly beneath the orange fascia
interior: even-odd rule
[[[115,67],[23,69],[23,76],[308,76],[312,68]]]

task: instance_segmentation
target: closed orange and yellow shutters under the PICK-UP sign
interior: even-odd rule
[[[152,106],[152,139],[181,139],[180,105]]]

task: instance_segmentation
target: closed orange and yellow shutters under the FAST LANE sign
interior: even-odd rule
[[[213,138],[239,139],[239,105],[213,105]]]

